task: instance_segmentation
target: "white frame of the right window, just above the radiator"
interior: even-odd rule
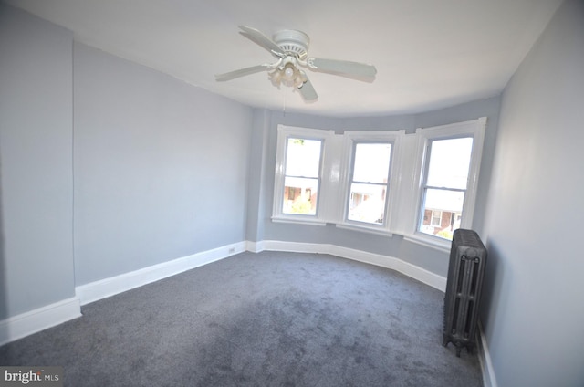
[[[410,222],[404,233],[404,238],[415,243],[426,246],[433,246],[443,251],[450,251],[452,242],[438,236],[428,235],[418,231],[419,222],[422,219],[422,194],[423,194],[423,179],[424,174],[427,173],[429,157],[428,145],[435,140],[448,140],[461,137],[473,138],[473,149],[471,152],[471,161],[468,171],[468,184],[464,194],[463,215],[461,218],[461,228],[472,228],[474,218],[474,204],[476,203],[476,193],[478,188],[479,171],[481,167],[481,159],[483,156],[483,143],[485,141],[486,117],[481,117],[477,120],[468,120],[464,122],[457,122],[449,125],[437,126],[432,128],[419,128],[416,130],[416,141],[412,142],[416,147],[415,152],[409,152],[410,156],[406,154],[406,163],[412,162],[415,165],[415,170],[412,175],[412,188],[410,193],[414,201],[409,205]],[[414,158],[414,159],[412,159]]]

